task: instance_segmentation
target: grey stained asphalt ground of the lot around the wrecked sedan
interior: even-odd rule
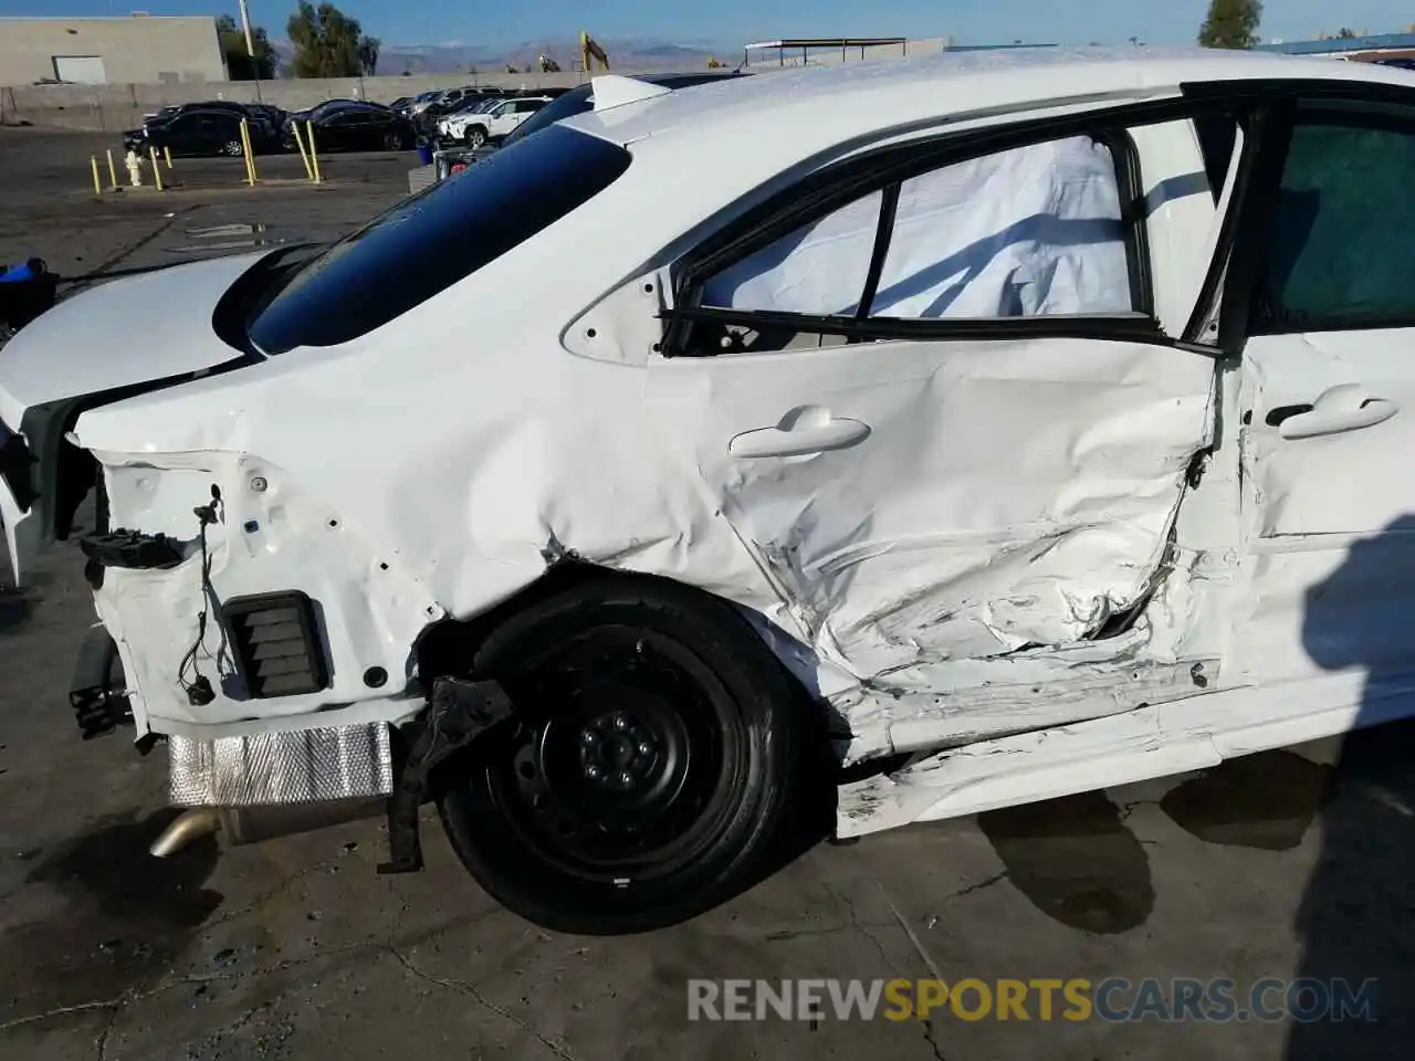
[[[320,239],[406,191],[410,156],[178,161],[183,187],[95,202],[102,139],[0,130],[0,262],[65,276]],[[289,180],[286,180],[289,178]],[[115,337],[142,341],[142,321]],[[0,351],[3,356],[3,351]],[[3,562],[0,562],[3,567]],[[0,1057],[1408,1057],[1415,727],[1201,775],[821,845],[679,928],[539,931],[429,815],[423,874],[379,877],[381,823],[161,862],[161,748],[81,741],[67,703],[81,563],[0,574]],[[1375,979],[1375,1021],[689,1021],[691,979]]]

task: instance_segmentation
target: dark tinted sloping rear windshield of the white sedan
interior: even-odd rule
[[[337,347],[471,276],[613,184],[630,153],[556,126],[405,199],[311,259],[250,320],[263,354]]]

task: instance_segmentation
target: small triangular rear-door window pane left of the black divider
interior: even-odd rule
[[[873,192],[727,266],[702,304],[732,310],[855,314],[870,269],[883,195]]]

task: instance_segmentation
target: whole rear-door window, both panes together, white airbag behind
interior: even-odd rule
[[[702,304],[853,315],[882,192],[729,266]],[[900,185],[870,317],[1126,313],[1135,304],[1115,160],[1091,137],[947,166]]]

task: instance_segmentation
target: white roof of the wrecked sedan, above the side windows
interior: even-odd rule
[[[741,143],[761,134],[821,150],[852,134],[911,120],[996,108],[1114,95],[1162,95],[1194,81],[1368,81],[1409,86],[1409,75],[1373,64],[1208,48],[1034,47],[942,52],[910,59],[795,66],[724,76],[566,122],[616,143],[685,130],[700,141]],[[652,81],[652,78],[642,78]],[[593,82],[591,82],[593,85]]]

